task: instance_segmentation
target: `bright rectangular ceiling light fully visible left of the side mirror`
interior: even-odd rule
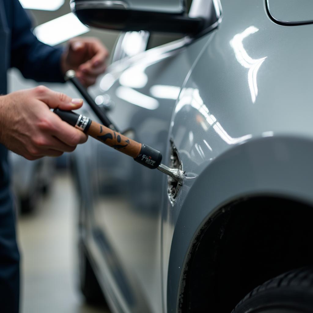
[[[37,38],[51,46],[87,32],[89,28],[81,23],[74,13],[65,14],[34,29]]]

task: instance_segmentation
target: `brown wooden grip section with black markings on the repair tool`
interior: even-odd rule
[[[90,127],[86,133],[91,137],[102,141],[106,145],[115,148],[133,158],[136,158],[141,151],[141,143],[131,140],[108,127],[100,125],[95,121],[91,122]]]

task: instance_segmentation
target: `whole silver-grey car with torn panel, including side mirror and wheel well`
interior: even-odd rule
[[[232,312],[257,288],[235,312],[312,311],[311,270],[297,269],[313,259],[313,25],[273,21],[270,2],[194,0],[189,16],[206,21],[194,35],[153,49],[145,32],[118,41],[93,94],[187,177],[179,189],[95,140],[77,149],[87,298],[98,280],[114,312]],[[151,31],[166,20],[170,32],[171,21],[190,22],[177,21],[181,1],[119,1],[112,20],[105,1],[73,3],[91,25]],[[134,11],[136,21],[122,19]]]

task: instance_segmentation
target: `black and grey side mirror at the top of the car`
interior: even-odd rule
[[[96,28],[195,34],[206,24],[185,13],[183,0],[71,0],[70,6],[82,23]]]

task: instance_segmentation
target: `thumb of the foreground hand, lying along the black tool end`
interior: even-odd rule
[[[70,98],[61,92],[53,91],[45,86],[38,86],[33,91],[35,97],[47,104],[51,109],[76,110],[83,105],[83,99]]]

